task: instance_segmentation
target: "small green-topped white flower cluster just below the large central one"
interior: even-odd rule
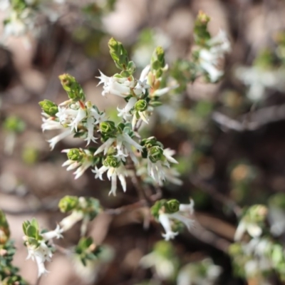
[[[166,241],[174,239],[180,229],[180,223],[184,224],[188,230],[192,227],[194,212],[194,201],[191,199],[190,204],[180,204],[177,199],[167,201],[162,199],[152,206],[152,215],[155,217],[162,227],[165,234],[162,237]]]

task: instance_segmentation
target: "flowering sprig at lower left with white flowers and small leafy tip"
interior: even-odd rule
[[[76,222],[83,221],[81,225],[81,235],[86,234],[87,223],[94,219],[101,211],[100,203],[94,198],[66,196],[61,199],[58,204],[61,212],[71,214],[57,225],[56,229],[50,232],[39,230],[38,222],[32,219],[31,222],[26,221],[23,224],[24,229],[24,244],[28,249],[27,259],[36,261],[38,266],[38,276],[48,273],[45,267],[46,261],[51,261],[53,256],[52,239],[59,239],[63,232],[71,229]],[[88,252],[88,254],[86,253]],[[95,248],[93,240],[83,238],[76,248],[76,253],[81,254],[81,259],[85,261],[90,259],[91,255],[98,253],[98,248]]]

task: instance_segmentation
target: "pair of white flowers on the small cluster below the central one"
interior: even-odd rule
[[[191,199],[190,204],[180,204],[179,211],[168,214],[161,212],[158,216],[158,220],[160,224],[162,224],[162,227],[165,229],[165,234],[162,234],[162,237],[165,238],[166,241],[169,241],[170,239],[174,239],[178,232],[172,231],[172,221],[178,220],[185,224],[188,230],[192,227],[193,219],[191,219],[191,216],[194,212],[194,201]]]

